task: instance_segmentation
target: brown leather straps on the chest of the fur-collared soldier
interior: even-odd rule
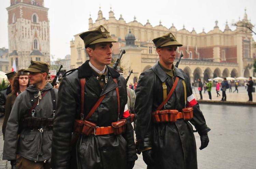
[[[117,84],[117,80],[114,79],[114,81]],[[81,114],[81,120],[84,120],[84,86],[85,86],[85,83],[86,83],[85,78],[80,79],[80,82],[81,82],[81,113],[80,114]],[[117,92],[117,99],[118,99],[118,117],[119,117],[119,114],[120,114],[120,99],[119,99],[118,85],[116,87],[116,92]],[[94,107],[91,109],[91,111],[85,117],[85,120],[88,120],[93,115],[93,113],[99,107],[101,101],[104,99],[105,96],[106,96],[106,94],[102,95],[99,98],[99,100],[96,102]]]

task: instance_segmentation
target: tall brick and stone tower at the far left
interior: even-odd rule
[[[28,68],[30,60],[49,64],[50,32],[44,0],[10,0],[6,9],[10,68],[13,61],[17,70]]]

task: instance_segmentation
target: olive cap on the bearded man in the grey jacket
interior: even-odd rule
[[[49,73],[49,64],[41,61],[30,61],[30,65],[28,69],[24,70],[24,72],[45,72]]]

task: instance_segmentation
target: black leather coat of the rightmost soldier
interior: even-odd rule
[[[182,80],[184,79],[186,84],[187,97],[193,97],[191,96],[192,89],[188,77],[182,70],[175,68],[174,76],[175,78],[179,76],[180,79],[167,102],[166,109],[176,109],[181,112],[186,107]],[[163,101],[163,81],[166,82],[168,94],[173,83],[170,76],[161,69],[159,63],[140,75],[135,102],[136,137],[139,150],[152,147],[156,165],[148,166],[148,169],[196,169],[196,141],[191,124],[195,126],[199,134],[207,133],[210,128],[207,127],[195,100],[193,104],[194,118],[190,120],[191,124],[184,119],[178,119],[175,123],[153,123],[152,112]],[[189,103],[187,103],[188,105]]]

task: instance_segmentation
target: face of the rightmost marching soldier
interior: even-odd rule
[[[177,45],[163,46],[156,51],[159,55],[160,63],[165,67],[169,67],[176,57]]]

